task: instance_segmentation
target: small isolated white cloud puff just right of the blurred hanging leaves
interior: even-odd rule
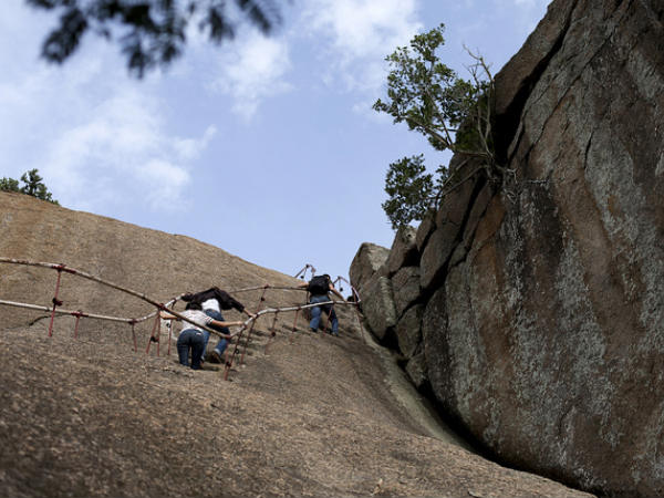
[[[232,111],[247,121],[264,98],[292,90],[283,81],[291,69],[286,39],[266,38],[251,31],[227,45],[227,52],[217,60],[217,75],[209,87],[231,96]]]

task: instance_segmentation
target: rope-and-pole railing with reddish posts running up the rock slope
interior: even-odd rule
[[[321,302],[321,303],[313,303],[313,304],[299,304],[299,305],[292,305],[292,307],[282,307],[282,308],[264,308],[261,309],[262,303],[266,300],[266,293],[268,291],[268,289],[272,289],[272,290],[298,290],[298,291],[307,291],[305,288],[302,287],[286,287],[286,286],[270,286],[270,284],[263,284],[263,286],[258,286],[258,287],[251,287],[251,288],[246,288],[246,289],[238,289],[238,290],[234,290],[231,291],[231,293],[238,293],[238,292],[248,292],[248,291],[252,291],[252,290],[262,290],[260,300],[258,302],[257,305],[257,311],[255,313],[255,317],[250,317],[249,319],[247,319],[242,325],[236,331],[232,332],[230,334],[225,334],[222,332],[219,332],[218,330],[211,329],[207,325],[200,325],[196,322],[194,322],[193,320],[186,318],[185,315],[183,315],[181,313],[175,311],[173,308],[175,307],[175,304],[177,303],[178,300],[181,299],[181,297],[184,294],[179,294],[176,298],[170,299],[169,301],[167,301],[166,303],[160,303],[155,299],[149,298],[148,295],[142,293],[142,292],[137,292],[135,290],[128,289],[126,287],[120,286],[117,283],[101,279],[98,277],[92,276],[85,271],[81,271],[77,270],[75,268],[71,268],[71,267],[66,267],[65,264],[61,264],[61,263],[49,263],[49,262],[35,262],[35,261],[28,261],[28,260],[23,260],[23,259],[13,259],[13,258],[4,258],[4,257],[0,257],[0,263],[10,263],[10,264],[22,264],[22,266],[31,266],[31,267],[39,267],[39,268],[45,268],[45,269],[52,269],[58,271],[58,281],[55,284],[55,292],[54,292],[54,297],[53,297],[53,304],[52,307],[46,307],[46,305],[38,305],[38,304],[29,304],[29,303],[20,303],[20,302],[14,302],[14,301],[8,301],[8,300],[0,300],[0,305],[9,305],[9,307],[15,307],[15,308],[24,308],[24,309],[30,309],[30,310],[37,310],[37,311],[45,311],[45,312],[50,312],[51,313],[51,320],[50,320],[50,325],[49,325],[49,336],[52,336],[52,330],[53,330],[53,320],[55,314],[62,314],[62,315],[71,315],[74,317],[76,319],[75,322],[75,329],[74,329],[74,338],[77,336],[77,331],[79,331],[79,321],[81,318],[90,318],[90,319],[96,319],[96,320],[106,320],[106,321],[113,321],[113,322],[122,322],[122,323],[127,323],[129,325],[132,325],[132,336],[133,336],[133,342],[134,342],[134,351],[137,351],[137,343],[136,343],[136,333],[135,333],[135,329],[134,326],[137,323],[141,322],[145,322],[147,320],[149,320],[151,318],[155,318],[155,324],[153,326],[153,331],[151,334],[151,338],[148,340],[147,343],[147,347],[146,347],[146,354],[149,353],[149,346],[151,346],[151,342],[156,342],[157,343],[157,355],[159,355],[159,342],[160,342],[160,312],[164,311],[173,317],[178,318],[179,320],[183,320],[185,322],[191,323],[196,326],[199,326],[206,331],[208,331],[209,333],[227,339],[229,341],[232,341],[234,339],[237,338],[235,347],[234,347],[234,352],[232,355],[230,356],[230,359],[228,357],[228,351],[226,354],[226,372],[224,374],[224,378],[227,380],[228,378],[228,373],[234,364],[235,357],[238,354],[239,351],[239,345],[240,345],[240,341],[242,338],[243,332],[247,330],[247,338],[245,340],[245,347],[242,351],[242,355],[240,359],[240,364],[243,362],[245,359],[245,354],[247,352],[247,347],[249,345],[249,341],[251,339],[251,332],[253,331],[256,321],[263,315],[267,314],[274,314],[274,320],[272,321],[272,326],[270,328],[271,330],[271,336],[269,342],[272,340],[273,336],[276,336],[276,322],[277,322],[277,317],[279,313],[287,313],[287,312],[295,312],[295,317],[294,317],[294,323],[292,326],[292,331],[294,332],[297,330],[297,323],[298,323],[298,317],[300,314],[301,311],[310,309],[310,308],[315,308],[315,307],[321,307],[321,305],[326,305],[330,304],[332,307],[339,304],[339,305],[355,305],[355,309],[357,310],[356,304],[360,302],[360,298],[357,295],[357,292],[355,291],[355,289],[351,286],[351,289],[353,291],[353,298],[354,301],[334,301],[334,300],[330,300],[330,301],[325,301],[325,302]],[[312,270],[312,274],[315,271],[315,269],[313,269],[313,267],[311,267],[310,264],[304,267],[304,271],[311,268]],[[76,310],[76,311],[72,311],[72,310],[65,310],[62,308],[59,308],[63,304],[62,301],[60,301],[58,299],[58,294],[60,291],[60,283],[61,283],[61,277],[62,273],[70,273],[76,277],[81,277],[83,279],[87,279],[94,282],[97,282],[102,286],[106,286],[110,287],[112,289],[116,289],[121,292],[127,293],[129,295],[133,295],[135,298],[138,298],[147,303],[149,303],[151,305],[154,305],[156,308],[155,311],[141,317],[141,318],[124,318],[124,317],[111,317],[111,315],[104,315],[104,314],[96,314],[96,313],[87,313],[87,312],[83,312],[81,310]],[[345,282],[347,282],[347,280],[345,280],[343,277],[338,277],[338,279],[334,281],[334,283],[336,283],[339,280],[343,280]],[[350,284],[350,282],[347,282]],[[328,317],[329,318],[329,317]],[[326,328],[326,323],[324,329]],[[169,336],[172,334],[172,330],[173,328],[169,328]],[[269,343],[268,343],[269,345]],[[267,350],[267,346],[266,346]],[[170,340],[168,341],[168,354],[170,354]]]

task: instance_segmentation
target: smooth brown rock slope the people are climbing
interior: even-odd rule
[[[61,262],[166,301],[299,281],[194,239],[0,193],[0,255]],[[303,257],[303,260],[307,258]],[[48,305],[55,272],[0,264],[0,299]],[[183,289],[185,288],[185,289]],[[238,294],[250,308],[301,293]],[[63,274],[63,307],[124,317],[138,300]],[[260,319],[246,366],[179,366],[131,329],[0,307],[0,496],[588,496],[430,436],[339,310],[341,336]],[[235,312],[229,318],[237,317]],[[264,321],[264,322],[263,322]],[[403,393],[401,393],[403,398]],[[409,403],[415,403],[411,400]]]

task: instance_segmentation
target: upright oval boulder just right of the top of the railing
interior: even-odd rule
[[[383,340],[396,325],[396,309],[388,278],[375,274],[362,291],[362,313],[372,333]]]

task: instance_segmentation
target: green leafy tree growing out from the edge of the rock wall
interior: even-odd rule
[[[436,52],[445,44],[444,29],[440,24],[417,34],[408,46],[397,48],[386,58],[387,98],[377,100],[373,108],[390,114],[394,123],[405,122],[436,151],[480,157],[491,167],[492,79],[484,60],[471,53],[471,80],[459,77],[440,62]],[[425,174],[422,155],[391,164],[385,180],[390,197],[383,209],[393,228],[421,220],[429,209],[436,209],[448,179],[444,166],[435,177]]]

